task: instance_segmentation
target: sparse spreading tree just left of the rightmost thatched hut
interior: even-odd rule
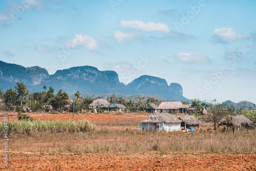
[[[214,122],[214,130],[216,130],[216,123],[221,121],[228,115],[235,115],[233,107],[227,104],[218,103],[216,100],[211,101],[208,114],[205,116],[206,121]]]

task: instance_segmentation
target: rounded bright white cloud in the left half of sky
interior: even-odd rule
[[[86,49],[96,49],[97,48],[97,41],[86,35],[86,34],[75,34],[74,38],[67,40],[66,41],[66,46],[70,47],[70,46],[81,46],[84,47]]]

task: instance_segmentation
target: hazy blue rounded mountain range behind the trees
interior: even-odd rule
[[[115,71],[99,71],[95,67],[82,66],[58,70],[49,75],[40,67],[25,68],[0,60],[0,89],[14,89],[16,82],[24,82],[30,91],[42,91],[44,86],[56,91],[62,89],[72,95],[76,91],[89,94],[158,95],[169,101],[190,101],[183,96],[179,83],[167,84],[165,79],[142,75],[125,85]]]

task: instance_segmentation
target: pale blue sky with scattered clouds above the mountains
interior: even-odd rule
[[[0,2],[0,60],[180,83],[189,99],[256,103],[256,1]]]

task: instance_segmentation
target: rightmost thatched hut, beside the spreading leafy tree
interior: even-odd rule
[[[252,121],[250,121],[244,115],[229,115],[228,117],[222,119],[218,124],[219,126],[226,125],[227,127],[237,127],[238,130],[243,130],[244,127],[248,127],[251,123]]]

